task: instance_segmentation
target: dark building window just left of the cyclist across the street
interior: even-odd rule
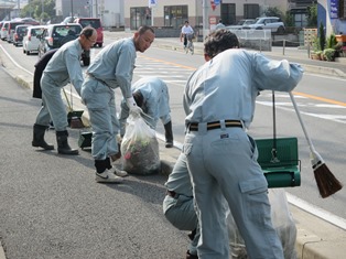
[[[179,29],[188,20],[187,6],[164,7],[164,25]]]

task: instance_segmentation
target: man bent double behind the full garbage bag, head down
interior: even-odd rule
[[[143,110],[141,114],[145,122],[152,128],[156,128],[158,120],[161,119],[165,131],[165,147],[173,147],[173,131],[170,109],[170,94],[166,84],[158,77],[143,77],[132,85],[132,96],[137,105]],[[123,99],[119,116],[120,136],[126,131],[126,121],[129,117],[129,108]]]

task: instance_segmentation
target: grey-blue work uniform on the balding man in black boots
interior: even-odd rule
[[[79,40],[76,39],[64,44],[50,60],[41,78],[42,107],[36,125],[48,126],[52,117],[56,131],[67,130],[67,111],[62,99],[62,88],[71,82],[80,95],[84,80],[82,52]]]

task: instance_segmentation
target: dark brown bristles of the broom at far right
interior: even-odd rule
[[[313,165],[313,170],[320,194],[323,198],[343,188],[342,183],[334,176],[324,162],[318,161],[317,164]]]

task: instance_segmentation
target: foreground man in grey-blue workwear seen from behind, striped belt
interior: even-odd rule
[[[227,30],[209,34],[204,43],[206,63],[184,89],[183,152],[201,227],[197,255],[229,259],[226,198],[249,258],[283,259],[271,222],[268,183],[245,128],[252,120],[259,91],[291,91],[303,69],[238,47],[237,36]]]

